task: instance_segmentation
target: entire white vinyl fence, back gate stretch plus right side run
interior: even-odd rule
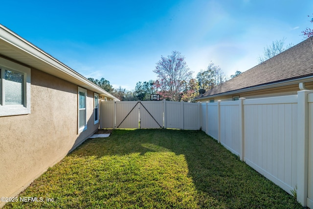
[[[215,103],[102,102],[100,127],[202,129],[313,209],[313,91]]]

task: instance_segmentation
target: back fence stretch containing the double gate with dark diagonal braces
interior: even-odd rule
[[[200,129],[200,103],[103,101],[100,128]]]

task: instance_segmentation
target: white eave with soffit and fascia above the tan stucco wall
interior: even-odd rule
[[[59,60],[1,24],[0,55],[119,101],[119,99],[111,93],[101,89],[75,70],[67,67]]]

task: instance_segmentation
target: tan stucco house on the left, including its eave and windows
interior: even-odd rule
[[[118,101],[0,24],[0,197],[18,195],[99,128],[95,96]]]

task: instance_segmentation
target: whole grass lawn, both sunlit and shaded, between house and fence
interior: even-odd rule
[[[44,201],[4,209],[302,208],[204,132],[168,129],[114,130],[109,138],[89,139],[20,197]]]

